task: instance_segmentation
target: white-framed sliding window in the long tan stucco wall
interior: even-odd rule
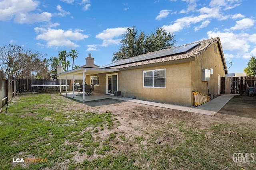
[[[166,87],[166,69],[143,71],[143,87]]]

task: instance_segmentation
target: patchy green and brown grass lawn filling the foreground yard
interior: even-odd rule
[[[256,168],[254,120],[239,124],[214,120],[202,129],[194,120],[178,116],[154,121],[152,129],[137,129],[143,135],[134,135],[118,131],[124,125],[122,115],[111,110],[88,112],[76,109],[76,104],[81,103],[59,94],[15,97],[7,113],[6,106],[0,113],[0,169]],[[255,161],[234,162],[235,152],[255,153]],[[13,158],[47,162],[14,163]]]

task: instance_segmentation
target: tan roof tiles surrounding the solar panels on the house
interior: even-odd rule
[[[206,39],[206,40],[203,40],[203,41],[198,41],[198,42],[195,42],[195,43],[191,43],[191,44],[196,44],[196,43],[199,43],[199,44],[195,45],[195,47],[189,49],[188,51],[186,51],[184,53],[179,53],[179,54],[174,54],[174,55],[165,55],[165,56],[163,55],[161,57],[158,56],[158,58],[153,58],[153,59],[144,60],[144,61],[137,61],[137,62],[133,62],[133,63],[128,63],[129,60],[127,60],[127,63],[122,62],[123,64],[109,66],[109,67],[108,67],[108,65],[109,65],[108,64],[106,66],[102,66],[101,68],[119,69],[119,68],[133,67],[133,66],[142,66],[142,65],[146,65],[146,64],[162,63],[162,62],[167,62],[167,61],[176,61],[176,60],[181,60],[181,59],[197,58],[202,53],[204,53],[204,51],[206,51],[211,45],[213,45],[214,43],[216,43],[218,41],[220,41],[219,37],[212,38],[212,39]],[[186,44],[186,45],[188,45],[188,44]],[[181,45],[181,46],[178,46],[178,47],[182,47],[182,46],[185,46],[185,45]],[[161,50],[161,51],[166,52],[168,50],[173,50],[174,48],[177,48],[177,47],[172,47],[172,48],[164,49],[164,50]],[[152,53],[158,53],[158,52],[159,51],[152,52]],[[152,55],[152,53],[150,53],[150,55]],[[222,53],[222,49],[221,49],[220,53]],[[140,56],[136,56],[136,57],[141,57],[141,56],[146,56],[146,55],[149,55],[149,54],[144,54],[144,55],[140,55]],[[223,64],[226,65],[226,62],[223,59],[222,59],[222,62],[224,62]],[[224,66],[224,68],[226,68],[226,67]]]

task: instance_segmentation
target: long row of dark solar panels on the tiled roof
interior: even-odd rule
[[[129,59],[116,61],[115,63],[111,63],[111,64],[108,64],[106,66],[103,66],[103,68],[122,65],[122,64],[128,64],[128,63],[134,63],[134,62],[138,62],[138,61],[155,59],[155,58],[163,57],[163,56],[167,56],[167,55],[174,55],[174,54],[178,54],[178,53],[184,53],[184,52],[192,49],[193,47],[195,47],[198,44],[199,43],[183,45],[183,46],[173,47],[173,48],[170,48],[170,49],[164,49],[164,50],[160,50],[160,51],[156,51],[156,52],[152,52],[152,53],[139,55],[137,57],[132,57],[132,58],[129,58]]]

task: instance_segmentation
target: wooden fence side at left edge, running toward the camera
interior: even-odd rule
[[[13,96],[16,96],[16,79],[6,75],[0,70],[0,109],[9,102]]]

